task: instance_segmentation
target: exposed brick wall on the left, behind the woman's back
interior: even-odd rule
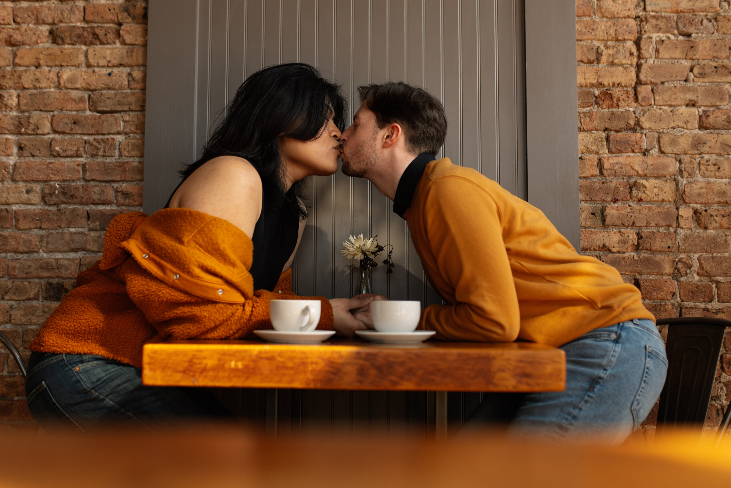
[[[142,205],[146,1],[0,1],[0,331],[27,347]],[[0,348],[0,423],[34,425]]]

